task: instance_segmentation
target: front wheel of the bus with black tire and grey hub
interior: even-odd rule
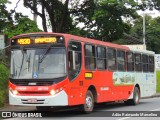
[[[90,113],[94,108],[94,97],[90,90],[87,91],[85,97],[85,104],[80,106],[80,111],[83,113]]]

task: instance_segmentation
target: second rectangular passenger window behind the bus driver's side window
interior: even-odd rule
[[[106,48],[97,47],[97,69],[106,69]]]

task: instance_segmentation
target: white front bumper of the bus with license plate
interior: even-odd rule
[[[53,96],[17,96],[9,91],[9,104],[23,106],[67,106],[68,95],[64,90]]]

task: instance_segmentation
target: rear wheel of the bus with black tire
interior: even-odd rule
[[[138,87],[134,88],[134,92],[133,92],[133,99],[129,99],[127,101],[124,101],[124,103],[126,105],[138,105],[140,101],[140,91],[138,89]]]

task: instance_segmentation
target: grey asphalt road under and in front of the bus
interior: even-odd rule
[[[25,108],[20,107],[17,108],[18,113],[20,112],[20,116],[23,114],[24,116],[30,113],[37,113],[33,107]],[[92,119],[92,120],[159,120],[160,119],[160,97],[141,99],[141,102],[137,106],[126,106],[123,102],[120,103],[107,103],[107,104],[99,104],[96,105],[94,111],[90,114],[81,114],[79,112],[75,112],[77,108],[66,108],[63,111],[56,110],[55,112],[49,113],[38,113],[37,116],[41,116],[42,118],[9,118],[7,120],[32,120],[32,119],[76,119],[76,120],[84,120],[84,119]],[[2,111],[2,110],[0,110]],[[7,109],[5,109],[7,111]],[[12,110],[8,110],[12,111]],[[31,116],[31,114],[30,114]],[[134,116],[134,117],[132,117]],[[141,116],[141,117],[137,117]],[[159,116],[159,117],[156,117]]]

